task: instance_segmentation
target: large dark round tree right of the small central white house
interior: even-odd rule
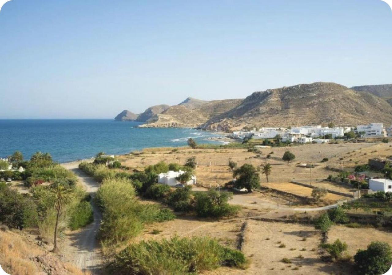
[[[252,164],[244,164],[234,171],[236,181],[234,186],[238,189],[246,188],[248,193],[260,186],[260,176]]]

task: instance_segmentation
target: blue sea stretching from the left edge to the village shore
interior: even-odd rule
[[[0,119],[0,157],[21,151],[25,159],[48,152],[56,162],[90,158],[103,151],[119,155],[146,147],[183,146],[216,134],[191,128],[137,128],[138,122],[111,119]]]

